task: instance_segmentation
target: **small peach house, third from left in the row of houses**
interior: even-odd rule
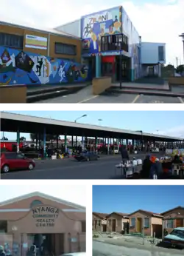
[[[130,233],[143,233],[156,238],[162,237],[163,216],[153,212],[138,210],[129,215]]]

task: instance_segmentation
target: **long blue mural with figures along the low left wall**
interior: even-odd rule
[[[0,85],[74,83],[88,73],[85,64],[0,47]]]

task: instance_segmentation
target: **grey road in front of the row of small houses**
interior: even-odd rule
[[[89,255],[91,256],[180,256],[183,255],[182,250],[165,249],[158,246],[138,246],[132,243],[124,243],[117,246],[109,243],[101,243],[92,241],[89,247]]]

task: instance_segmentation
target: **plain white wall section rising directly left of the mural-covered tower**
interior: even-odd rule
[[[63,31],[65,33],[71,34],[72,36],[81,37],[81,19],[79,18],[76,21],[63,24],[59,27],[55,27],[54,29],[57,31]]]

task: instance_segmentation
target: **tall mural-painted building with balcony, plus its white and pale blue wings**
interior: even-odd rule
[[[142,41],[122,6],[54,29],[82,38],[82,63],[91,67],[92,77],[135,81],[146,75],[160,76],[160,66],[166,63],[166,44]]]

